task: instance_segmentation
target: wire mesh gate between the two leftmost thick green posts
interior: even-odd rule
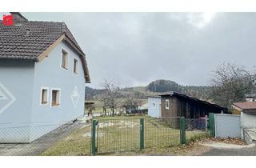
[[[139,118],[101,119],[97,122],[98,154],[139,150]]]

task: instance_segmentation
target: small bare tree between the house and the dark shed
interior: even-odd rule
[[[120,86],[118,83],[113,82],[110,79],[104,79],[102,83],[104,94],[102,95],[103,112],[106,113],[106,108],[110,108],[112,116],[114,116],[114,110],[118,109],[120,97]]]

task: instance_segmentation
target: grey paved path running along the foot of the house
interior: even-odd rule
[[[58,129],[30,143],[0,144],[1,156],[36,156],[47,150],[55,142],[69,135],[72,131],[84,126],[81,121],[69,122]]]

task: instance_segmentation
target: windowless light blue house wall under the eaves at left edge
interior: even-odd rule
[[[34,62],[0,60],[0,142],[30,141],[33,81]]]

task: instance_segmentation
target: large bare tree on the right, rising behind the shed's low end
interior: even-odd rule
[[[255,91],[255,77],[254,72],[243,66],[223,63],[214,71],[210,98],[228,108],[233,102],[243,102],[245,94]]]

